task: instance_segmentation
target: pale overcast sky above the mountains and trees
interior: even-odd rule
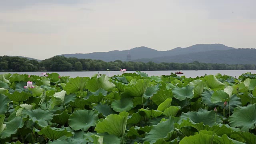
[[[256,0],[0,0],[0,56],[256,48]]]

